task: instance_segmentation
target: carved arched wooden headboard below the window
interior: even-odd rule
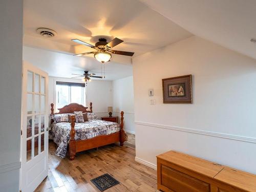
[[[88,107],[87,106],[83,106],[81,104],[78,103],[70,103],[67,104],[65,106],[63,106],[63,108],[59,108],[59,113],[54,113],[54,104],[51,103],[51,115],[54,114],[62,114],[62,113],[73,113],[74,111],[82,111],[83,113],[92,113],[93,112],[93,107],[92,107],[93,103],[90,102],[90,111],[88,111]]]

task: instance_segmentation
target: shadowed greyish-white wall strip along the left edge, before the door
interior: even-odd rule
[[[1,1],[0,23],[0,191],[18,191],[23,1]]]

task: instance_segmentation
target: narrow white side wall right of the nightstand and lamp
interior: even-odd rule
[[[135,134],[133,76],[113,81],[113,111],[120,117],[124,112],[124,129]]]

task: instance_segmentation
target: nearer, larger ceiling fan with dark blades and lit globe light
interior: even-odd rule
[[[133,56],[134,54],[133,52],[112,50],[113,47],[123,42],[123,40],[117,37],[111,40],[110,42],[106,42],[105,38],[99,38],[99,41],[96,42],[95,46],[88,44],[87,42],[84,42],[79,39],[71,39],[71,40],[73,40],[74,42],[77,42],[78,44],[96,49],[96,51],[92,51],[92,52],[75,54],[76,56],[94,54],[95,59],[97,59],[102,63],[110,61],[110,58],[112,57],[111,53],[118,54],[118,55],[126,55],[126,56]]]

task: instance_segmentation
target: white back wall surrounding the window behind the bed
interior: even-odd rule
[[[81,79],[49,77],[49,112],[51,103],[55,103],[54,93],[56,81],[82,82]],[[90,109],[90,102],[93,103],[93,112],[100,118],[108,115],[108,106],[112,106],[112,81],[92,80],[87,83],[86,100]]]

